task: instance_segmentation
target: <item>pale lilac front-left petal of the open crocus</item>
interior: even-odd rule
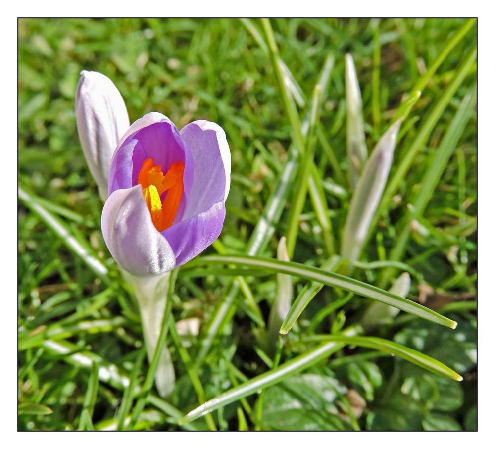
[[[106,246],[116,262],[137,276],[175,268],[174,252],[151,221],[141,185],[113,192],[101,215]]]

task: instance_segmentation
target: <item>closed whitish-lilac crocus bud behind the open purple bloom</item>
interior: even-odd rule
[[[120,136],[129,128],[129,116],[120,92],[108,77],[86,70],[81,75],[76,93],[77,130],[91,174],[105,200],[110,161]]]

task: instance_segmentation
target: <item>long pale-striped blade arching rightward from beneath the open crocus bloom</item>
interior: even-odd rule
[[[264,268],[277,273],[291,274],[303,279],[317,281],[331,287],[341,288],[366,298],[375,299],[385,304],[392,305],[393,307],[397,307],[404,312],[441,324],[442,326],[450,327],[452,329],[455,329],[457,326],[455,321],[452,321],[421,304],[411,301],[410,299],[401,298],[386,290],[357,281],[356,279],[348,278],[336,273],[329,273],[321,268],[309,267],[302,263],[282,262],[277,259],[236,255],[198,257],[189,263],[193,265],[204,263],[231,263],[234,265]]]

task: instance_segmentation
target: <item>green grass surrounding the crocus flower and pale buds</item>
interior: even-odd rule
[[[476,429],[475,49],[465,19],[20,20],[18,428]],[[353,194],[347,53],[368,152],[405,117],[351,279],[336,253]],[[113,80],[131,122],[205,118],[229,141],[222,234],[174,272],[167,398],[101,236],[82,69]],[[412,303],[384,292],[404,271]],[[294,304],[267,342],[276,273]],[[363,328],[378,296],[406,312]]]

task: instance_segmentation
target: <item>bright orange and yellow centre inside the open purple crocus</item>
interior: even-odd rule
[[[184,162],[174,162],[163,174],[161,164],[154,159],[143,162],[138,175],[138,184],[143,187],[143,195],[148,204],[151,220],[158,231],[172,226],[184,194]]]

